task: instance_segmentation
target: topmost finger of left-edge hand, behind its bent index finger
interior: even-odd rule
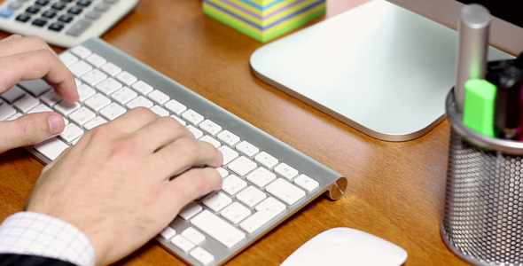
[[[10,35],[0,41],[0,57],[41,49],[49,50],[56,55],[55,51],[39,36]]]

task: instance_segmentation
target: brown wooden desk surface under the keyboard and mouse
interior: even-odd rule
[[[329,1],[327,17],[365,1]],[[277,265],[337,226],[402,246],[409,253],[405,265],[466,264],[440,236],[448,121],[408,142],[368,137],[256,79],[249,57],[262,43],[204,15],[200,0],[142,1],[103,39],[348,177],[341,200],[315,200],[230,265]],[[0,155],[0,220],[22,210],[42,168],[23,149]],[[118,264],[183,262],[151,241]]]

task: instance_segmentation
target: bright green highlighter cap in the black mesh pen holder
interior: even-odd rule
[[[483,135],[495,137],[496,85],[480,79],[464,83],[463,123]]]

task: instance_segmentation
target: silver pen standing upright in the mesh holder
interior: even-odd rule
[[[485,78],[490,21],[490,12],[480,4],[464,5],[459,13],[459,47],[454,98],[460,111],[463,111],[464,105],[464,83],[470,79]]]

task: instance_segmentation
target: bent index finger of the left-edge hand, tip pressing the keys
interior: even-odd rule
[[[74,75],[51,51],[41,49],[0,58],[0,93],[20,81],[44,78],[67,101],[79,99]]]

